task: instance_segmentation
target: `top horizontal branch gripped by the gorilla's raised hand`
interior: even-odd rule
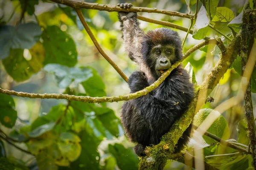
[[[184,18],[193,18],[193,15],[183,14],[177,11],[166,11],[164,9],[157,8],[143,8],[143,7],[131,7],[131,8],[120,8],[119,6],[105,5],[99,3],[86,3],[86,2],[78,2],[73,0],[51,0],[55,3],[64,4],[70,6],[72,8],[85,8],[85,9],[96,9],[99,11],[108,11],[108,12],[148,12],[148,13],[158,13],[158,14],[166,14],[169,16],[177,16]]]

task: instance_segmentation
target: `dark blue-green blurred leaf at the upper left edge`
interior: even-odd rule
[[[36,23],[0,26],[0,59],[9,56],[10,48],[29,49],[39,40],[41,27]]]

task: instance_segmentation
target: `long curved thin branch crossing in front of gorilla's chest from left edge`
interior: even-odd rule
[[[161,75],[157,81],[155,81],[152,85],[144,88],[141,91],[137,91],[136,93],[127,94],[124,96],[112,96],[112,97],[90,97],[90,96],[74,96],[69,94],[33,94],[33,93],[24,93],[24,92],[16,92],[16,91],[9,91],[4,90],[0,88],[0,93],[7,94],[7,95],[14,95],[14,96],[20,96],[20,97],[27,97],[32,99],[67,99],[70,101],[79,101],[79,102],[91,102],[91,103],[103,103],[103,102],[119,102],[119,101],[127,101],[131,99],[136,99],[140,96],[146,95],[155,88],[157,88],[169,74],[171,71],[176,68],[178,65],[180,65],[181,62],[183,62],[186,57],[188,57],[190,54],[192,54],[194,51],[198,50],[199,48],[208,45],[208,44],[216,44],[218,45],[218,41],[216,40],[205,40],[204,42],[199,43],[198,45],[195,45],[194,47],[190,48],[184,55],[183,58],[179,62],[175,62],[171,68],[169,68],[165,73]]]

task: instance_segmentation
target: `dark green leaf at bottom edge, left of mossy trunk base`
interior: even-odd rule
[[[116,158],[120,170],[137,170],[139,159],[122,144],[108,145],[109,152]]]

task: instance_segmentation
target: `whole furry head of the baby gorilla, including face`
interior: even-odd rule
[[[182,58],[182,46],[176,31],[157,28],[143,37],[142,57],[153,77],[158,79],[172,64]]]

